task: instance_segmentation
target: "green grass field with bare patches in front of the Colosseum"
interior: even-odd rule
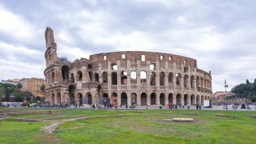
[[[9,108],[11,109],[11,108]],[[15,108],[12,108],[15,109]],[[0,109],[6,110],[6,109]],[[132,115],[101,117],[89,120],[69,121],[56,128],[52,134],[40,127],[53,121],[21,122],[0,120],[0,144],[254,144],[256,141],[256,112],[199,111],[199,110],[143,110],[144,113],[113,110],[59,109],[62,115]],[[133,110],[139,111],[139,110]],[[198,115],[184,115],[196,112]],[[157,115],[168,114],[168,115]],[[239,118],[216,117],[217,114],[238,115]],[[20,115],[19,117],[40,116]],[[45,116],[45,115],[42,115]],[[195,122],[159,121],[174,117],[188,117]],[[70,128],[70,129],[69,129]],[[75,129],[72,129],[75,128]]]

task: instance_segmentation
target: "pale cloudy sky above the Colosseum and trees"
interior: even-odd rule
[[[112,51],[197,59],[213,91],[256,78],[254,0],[0,0],[0,79],[44,77],[45,28],[69,61]]]

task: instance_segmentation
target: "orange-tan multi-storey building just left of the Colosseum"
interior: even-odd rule
[[[45,85],[45,80],[43,78],[30,78],[27,80],[27,91],[30,91],[34,96],[44,97],[44,92],[40,90],[42,85]]]

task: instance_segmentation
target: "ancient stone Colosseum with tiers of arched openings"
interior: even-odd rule
[[[57,56],[45,30],[45,101],[53,104],[203,104],[212,99],[211,71],[197,60],[169,53],[120,51],[69,62]]]

